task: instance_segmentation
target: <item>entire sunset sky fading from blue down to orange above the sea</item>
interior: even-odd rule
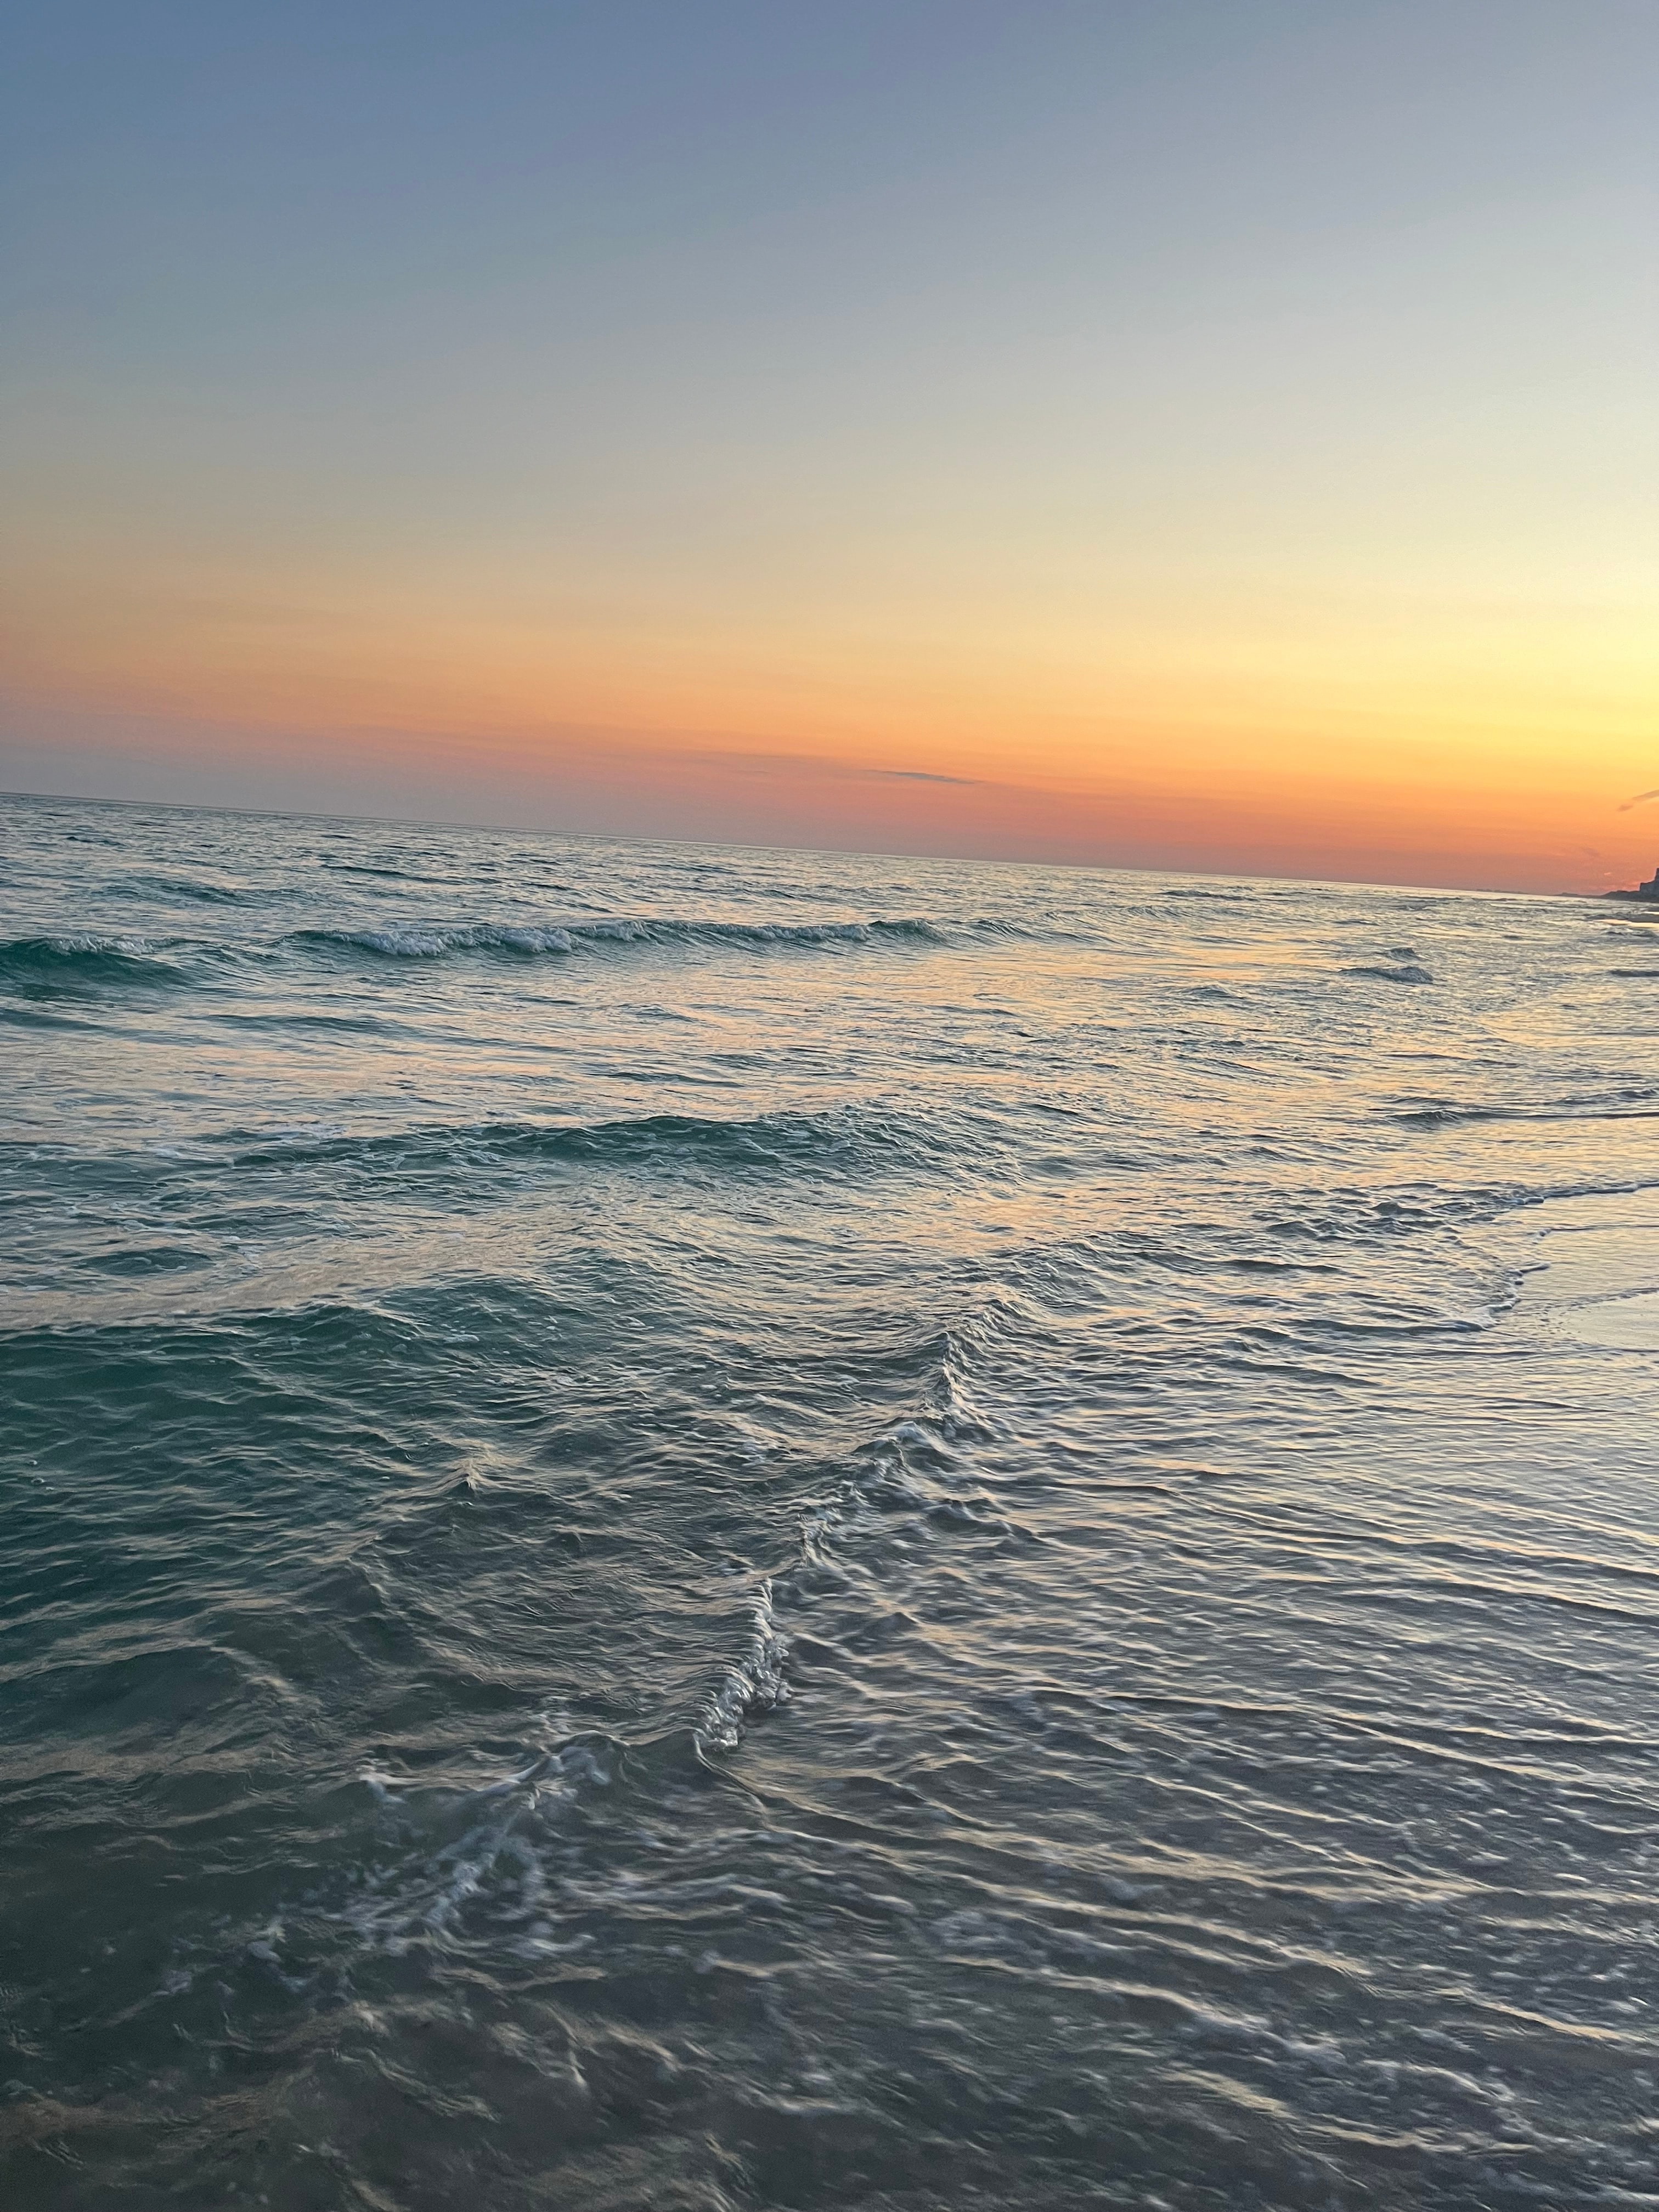
[[[1632,883],[1655,86],[1655,0],[18,11],[0,787]]]

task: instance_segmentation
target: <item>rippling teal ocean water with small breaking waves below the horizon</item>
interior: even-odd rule
[[[0,803],[9,2212],[1659,2203],[1659,940]]]

